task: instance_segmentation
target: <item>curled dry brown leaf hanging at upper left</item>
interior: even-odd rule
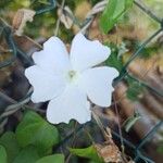
[[[15,34],[21,36],[24,32],[24,27],[27,22],[33,22],[34,15],[36,12],[29,9],[20,9],[14,15],[12,27],[15,30]]]

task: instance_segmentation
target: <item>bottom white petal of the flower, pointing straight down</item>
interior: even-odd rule
[[[48,104],[47,120],[52,124],[68,123],[75,118],[80,124],[90,121],[90,104],[86,93],[75,86],[67,86],[64,93]]]

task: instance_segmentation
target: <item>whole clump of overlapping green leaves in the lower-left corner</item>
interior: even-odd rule
[[[63,163],[62,154],[47,155],[58,142],[58,129],[37,113],[28,111],[15,134],[7,131],[1,136],[0,163],[53,163],[53,160]]]

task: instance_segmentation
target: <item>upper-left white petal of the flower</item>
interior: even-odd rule
[[[34,52],[35,63],[49,71],[61,72],[70,68],[68,53],[58,37],[51,37],[43,43],[43,50]]]

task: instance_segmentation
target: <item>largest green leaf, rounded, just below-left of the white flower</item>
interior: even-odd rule
[[[21,147],[34,145],[39,154],[47,154],[59,142],[58,129],[40,115],[28,111],[16,128],[16,138]]]

